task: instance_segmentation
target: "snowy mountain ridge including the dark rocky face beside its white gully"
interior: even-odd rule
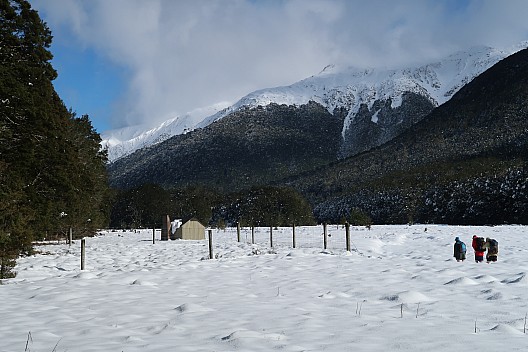
[[[115,161],[171,136],[206,127],[242,108],[267,106],[271,103],[300,106],[314,101],[331,114],[343,114],[342,154],[348,156],[393,138],[401,132],[395,126],[407,128],[414,124],[434,107],[449,100],[473,78],[527,45],[528,42],[524,42],[507,50],[474,47],[437,62],[401,69],[360,69],[329,65],[319,74],[292,85],[255,91],[230,106],[219,104],[199,109],[143,133],[139,133],[139,129],[133,134],[130,130],[110,131],[103,135],[102,144],[108,147],[110,161]],[[416,109],[417,97],[420,100],[420,110],[409,113],[409,109]],[[413,104],[407,104],[401,110],[408,100],[413,100]],[[412,121],[405,120],[413,114],[416,116]],[[132,137],[125,138],[126,135]],[[361,148],[358,147],[358,142],[363,143],[361,139],[374,142]],[[356,142],[353,147],[347,147],[350,140]]]

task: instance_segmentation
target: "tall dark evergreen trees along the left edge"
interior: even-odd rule
[[[106,153],[54,90],[52,35],[25,0],[0,0],[0,278],[31,241],[108,221]]]

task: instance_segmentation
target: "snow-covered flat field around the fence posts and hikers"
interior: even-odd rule
[[[427,229],[427,230],[426,230]],[[527,227],[152,230],[46,245],[0,286],[0,351],[525,351]],[[499,241],[472,260],[473,234]],[[159,232],[156,234],[159,239]],[[468,260],[452,258],[455,236]],[[475,332],[476,330],[476,332]],[[28,341],[28,336],[30,339]],[[26,347],[27,344],[27,347]]]

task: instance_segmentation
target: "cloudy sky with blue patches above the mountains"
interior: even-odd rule
[[[328,64],[397,67],[528,40],[524,0],[30,0],[55,87],[99,132],[154,127]]]

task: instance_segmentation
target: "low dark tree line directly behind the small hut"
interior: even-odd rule
[[[115,191],[110,227],[160,227],[164,215],[218,227],[315,224],[311,205],[292,188],[262,186],[223,194],[203,186],[164,189],[145,184]]]

